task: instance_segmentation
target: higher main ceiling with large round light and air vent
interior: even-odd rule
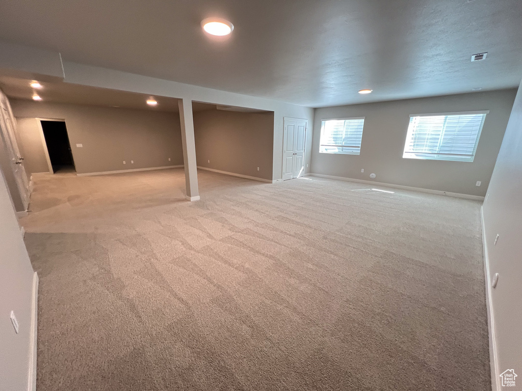
[[[234,24],[228,39],[201,30],[209,16]],[[515,87],[521,20],[520,0],[17,0],[2,4],[0,40],[322,107]]]

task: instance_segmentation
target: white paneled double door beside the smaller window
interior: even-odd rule
[[[283,180],[297,178],[304,172],[306,121],[284,118]]]

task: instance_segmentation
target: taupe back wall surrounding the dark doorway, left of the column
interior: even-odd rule
[[[16,99],[11,99],[11,107],[17,118],[65,119],[76,172],[80,174],[183,164],[177,113]],[[26,121],[20,121],[22,124]],[[26,159],[40,170],[45,156],[36,130],[39,132],[33,126],[20,126],[18,132],[23,150],[35,154]],[[22,136],[24,133],[30,135]]]

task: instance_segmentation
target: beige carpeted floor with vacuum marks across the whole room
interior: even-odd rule
[[[35,178],[39,391],[490,390],[480,203],[182,169]]]

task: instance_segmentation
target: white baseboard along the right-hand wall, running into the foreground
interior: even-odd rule
[[[495,323],[493,321],[493,303],[491,301],[491,282],[489,270],[488,242],[486,241],[486,231],[484,225],[484,211],[480,207],[480,222],[482,228],[482,251],[484,252],[484,280],[486,284],[486,311],[488,313],[488,334],[489,334],[489,350],[490,350],[490,366],[491,366],[491,390],[497,391],[499,385],[499,370],[497,368],[496,340],[495,340]]]

